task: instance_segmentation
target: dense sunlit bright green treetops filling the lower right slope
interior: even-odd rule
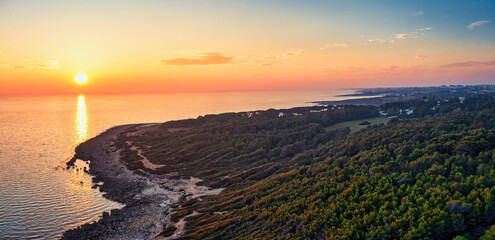
[[[230,213],[204,214],[187,236],[476,237],[495,216],[495,130],[458,123],[466,118],[393,124],[322,147],[321,162],[191,206]]]

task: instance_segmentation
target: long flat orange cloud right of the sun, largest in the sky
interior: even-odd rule
[[[189,66],[189,65],[212,65],[212,64],[226,64],[232,63],[233,57],[224,56],[223,53],[201,53],[200,56],[195,58],[172,58],[160,60],[161,64],[176,65],[176,66]]]

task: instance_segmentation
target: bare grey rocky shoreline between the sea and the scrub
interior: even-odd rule
[[[171,205],[221,191],[197,186],[201,181],[197,178],[177,179],[129,171],[120,160],[120,150],[115,148],[113,141],[129,127],[136,126],[147,127],[113,127],[76,147],[67,166],[73,167],[78,159],[88,161],[93,187],[99,187],[105,198],[125,206],[104,212],[96,222],[65,231],[61,239],[160,239],[158,235],[163,228],[174,225],[170,220]]]

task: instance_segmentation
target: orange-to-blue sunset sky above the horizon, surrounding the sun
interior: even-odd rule
[[[0,94],[494,84],[494,16],[491,0],[3,0]]]

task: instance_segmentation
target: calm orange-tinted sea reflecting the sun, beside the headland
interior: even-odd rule
[[[0,97],[0,239],[54,239],[122,207],[64,170],[74,147],[115,125],[290,108],[351,90]]]

